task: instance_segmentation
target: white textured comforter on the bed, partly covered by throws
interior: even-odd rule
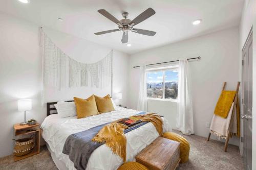
[[[140,112],[117,107],[115,111],[81,119],[77,119],[76,116],[59,118],[57,114],[53,114],[46,117],[41,124],[42,130],[44,130],[42,137],[49,144],[57,159],[64,162],[68,169],[75,169],[69,156],[62,153],[63,145],[69,135]],[[164,117],[162,119],[163,131],[170,131],[172,128],[169,127],[167,120]],[[148,123],[126,133],[125,136],[127,139],[126,161],[134,161],[135,156],[152,143],[159,134],[154,125]],[[92,153],[86,169],[117,169],[122,163],[122,159],[103,144]]]

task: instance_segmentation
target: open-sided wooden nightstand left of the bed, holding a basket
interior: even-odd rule
[[[35,125],[31,125],[31,126],[29,126],[29,125],[21,126],[19,124],[15,124],[13,128],[14,128],[15,136],[27,135],[27,134],[32,135],[33,133],[36,134],[35,147],[33,148],[33,150],[27,155],[23,155],[23,156],[14,156],[13,155],[14,161],[22,160],[22,159],[28,158],[32,155],[36,155],[36,154],[40,153],[40,134],[41,134],[40,124],[35,124]],[[29,130],[33,130],[33,131],[29,131]]]

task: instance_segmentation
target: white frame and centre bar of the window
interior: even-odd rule
[[[177,102],[177,99],[165,99],[165,71],[167,70],[177,70],[179,68],[179,65],[172,65],[172,66],[165,66],[165,67],[154,67],[154,68],[147,68],[146,69],[146,74],[148,72],[156,72],[156,71],[162,71],[163,72],[163,92],[162,92],[162,96],[163,98],[150,98],[147,96],[147,100],[157,100],[157,101],[169,101],[169,102]],[[179,84],[178,84],[178,88],[179,88]]]

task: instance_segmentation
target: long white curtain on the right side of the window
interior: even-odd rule
[[[178,130],[185,135],[194,134],[193,107],[189,74],[188,61],[180,60],[176,126]]]

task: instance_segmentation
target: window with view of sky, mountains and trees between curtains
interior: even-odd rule
[[[147,71],[147,98],[173,99],[178,96],[178,67]]]

